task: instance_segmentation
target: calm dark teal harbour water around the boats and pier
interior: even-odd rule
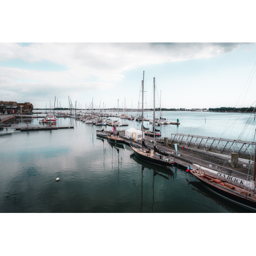
[[[150,118],[152,113],[147,115]],[[179,127],[161,127],[167,136],[221,136],[237,114],[163,112],[163,117],[181,122]],[[248,117],[242,116],[221,138],[237,139]],[[123,122],[129,122],[129,127],[133,123]],[[15,123],[36,124],[38,120]],[[57,125],[68,124],[75,128],[0,131],[0,212],[248,211],[204,189],[186,170],[155,167],[137,159],[129,146],[117,147],[97,139],[99,126],[58,119]],[[147,122],[145,126],[151,127]],[[251,140],[253,129],[252,123],[243,139]],[[61,181],[56,182],[57,177]]]

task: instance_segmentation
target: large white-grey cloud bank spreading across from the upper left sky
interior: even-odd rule
[[[114,88],[122,72],[164,62],[211,58],[233,52],[242,43],[33,43],[0,44],[0,62],[48,61],[65,71],[0,67],[0,89],[33,99]],[[33,80],[35,83],[16,82]]]

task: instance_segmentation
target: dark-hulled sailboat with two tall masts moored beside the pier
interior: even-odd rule
[[[164,167],[172,167],[174,165],[173,161],[169,159],[169,153],[165,153],[163,151],[160,151],[155,146],[156,142],[156,136],[155,136],[155,78],[153,78],[153,138],[154,138],[154,149],[151,150],[151,148],[148,148],[146,146],[146,143],[144,142],[144,116],[143,116],[143,97],[144,97],[144,71],[143,71],[143,80],[142,80],[142,147],[130,143],[131,148],[133,148],[135,156],[139,157],[140,159],[144,161],[148,161],[152,164],[164,166]]]

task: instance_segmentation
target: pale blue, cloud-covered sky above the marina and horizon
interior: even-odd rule
[[[254,43],[0,43],[0,100],[44,108],[68,98],[83,108],[250,106],[256,95]],[[255,104],[254,104],[255,105]]]

